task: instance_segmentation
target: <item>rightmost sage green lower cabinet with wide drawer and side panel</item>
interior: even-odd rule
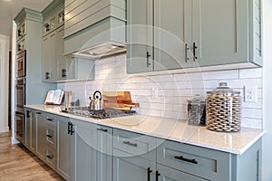
[[[260,149],[261,140],[242,155],[166,140],[157,148],[159,180],[260,180]]]

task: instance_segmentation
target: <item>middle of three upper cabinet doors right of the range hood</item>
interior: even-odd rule
[[[188,67],[189,14],[186,0],[154,1],[154,70]]]

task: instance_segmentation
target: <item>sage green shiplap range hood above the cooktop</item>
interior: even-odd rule
[[[64,55],[98,59],[125,52],[125,1],[105,0],[93,5],[86,1],[88,5],[90,8],[80,14],[73,12],[73,3],[65,5]]]

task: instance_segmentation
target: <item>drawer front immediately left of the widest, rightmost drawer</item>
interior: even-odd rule
[[[113,129],[113,155],[155,160],[156,138],[121,129]]]

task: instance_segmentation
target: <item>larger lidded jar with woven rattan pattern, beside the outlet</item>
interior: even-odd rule
[[[228,88],[227,82],[207,92],[206,129],[220,132],[237,132],[241,126],[240,92]]]

